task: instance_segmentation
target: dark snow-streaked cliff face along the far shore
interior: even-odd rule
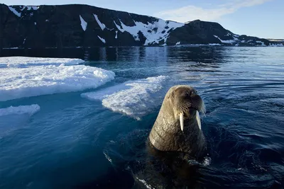
[[[176,23],[87,5],[0,4],[0,48],[100,47],[176,44],[269,45],[235,35],[218,23]]]

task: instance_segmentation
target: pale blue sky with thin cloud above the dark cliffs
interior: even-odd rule
[[[7,5],[89,4],[164,20],[200,19],[258,38],[284,39],[284,0],[1,0]]]

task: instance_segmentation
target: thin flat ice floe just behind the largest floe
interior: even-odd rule
[[[24,40],[24,42],[26,39]],[[1,67],[31,67],[42,65],[75,65],[83,63],[82,59],[69,58],[38,58],[38,57],[0,57]]]

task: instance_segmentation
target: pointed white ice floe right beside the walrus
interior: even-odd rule
[[[140,120],[141,116],[159,104],[159,99],[163,99],[165,94],[157,93],[162,91],[167,79],[167,76],[157,76],[127,81],[100,91],[82,93],[81,96],[89,100],[100,100],[106,108]]]

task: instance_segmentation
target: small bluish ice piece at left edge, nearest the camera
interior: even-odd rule
[[[12,114],[28,114],[33,115],[40,110],[40,106],[37,104],[33,105],[20,105],[20,106],[10,106],[9,108],[1,108],[0,116],[12,115]]]

